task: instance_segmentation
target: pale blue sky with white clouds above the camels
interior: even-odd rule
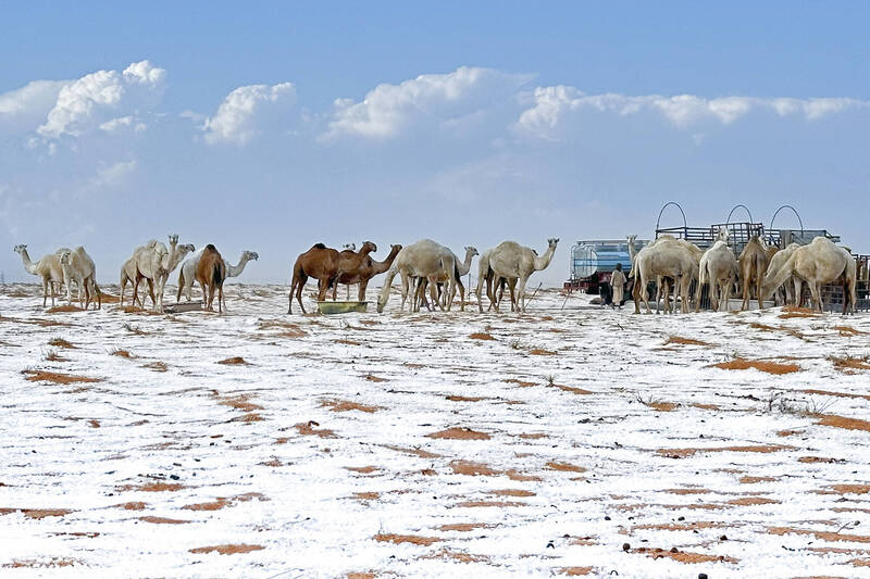
[[[669,201],[689,226],[788,203],[870,253],[867,3],[0,7],[9,281],[36,281],[17,243],[85,246],[107,282],[178,234],[257,251],[250,282],[315,242],[557,237],[558,285],[571,244],[649,238]]]

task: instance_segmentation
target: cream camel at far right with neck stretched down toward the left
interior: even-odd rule
[[[857,264],[852,254],[836,247],[825,237],[817,237],[809,244],[792,251],[791,256],[779,268],[770,269],[759,284],[758,298],[770,298],[790,277],[795,280],[795,295],[800,295],[803,282],[809,286],[813,310],[823,311],[821,287],[824,284],[843,281],[843,315],[855,313],[857,300]]]

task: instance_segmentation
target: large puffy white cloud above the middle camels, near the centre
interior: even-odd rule
[[[333,119],[321,139],[346,135],[386,139],[415,123],[446,126],[509,100],[530,79],[529,75],[462,66],[400,85],[378,85],[361,102],[336,99]]]

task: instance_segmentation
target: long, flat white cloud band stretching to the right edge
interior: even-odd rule
[[[574,87],[538,87],[531,96],[532,105],[522,112],[514,128],[538,138],[554,138],[560,122],[573,111],[592,109],[619,115],[642,111],[661,114],[679,128],[716,122],[729,125],[751,111],[773,111],[780,116],[803,115],[817,121],[848,109],[870,106],[870,101],[847,98],[758,98],[722,97],[707,99],[695,95],[625,96],[585,95]]]

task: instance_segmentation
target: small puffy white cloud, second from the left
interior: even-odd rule
[[[214,116],[206,119],[206,142],[247,144],[266,121],[281,117],[294,104],[296,89],[290,83],[239,87],[226,96]],[[186,116],[195,117],[192,113]]]

